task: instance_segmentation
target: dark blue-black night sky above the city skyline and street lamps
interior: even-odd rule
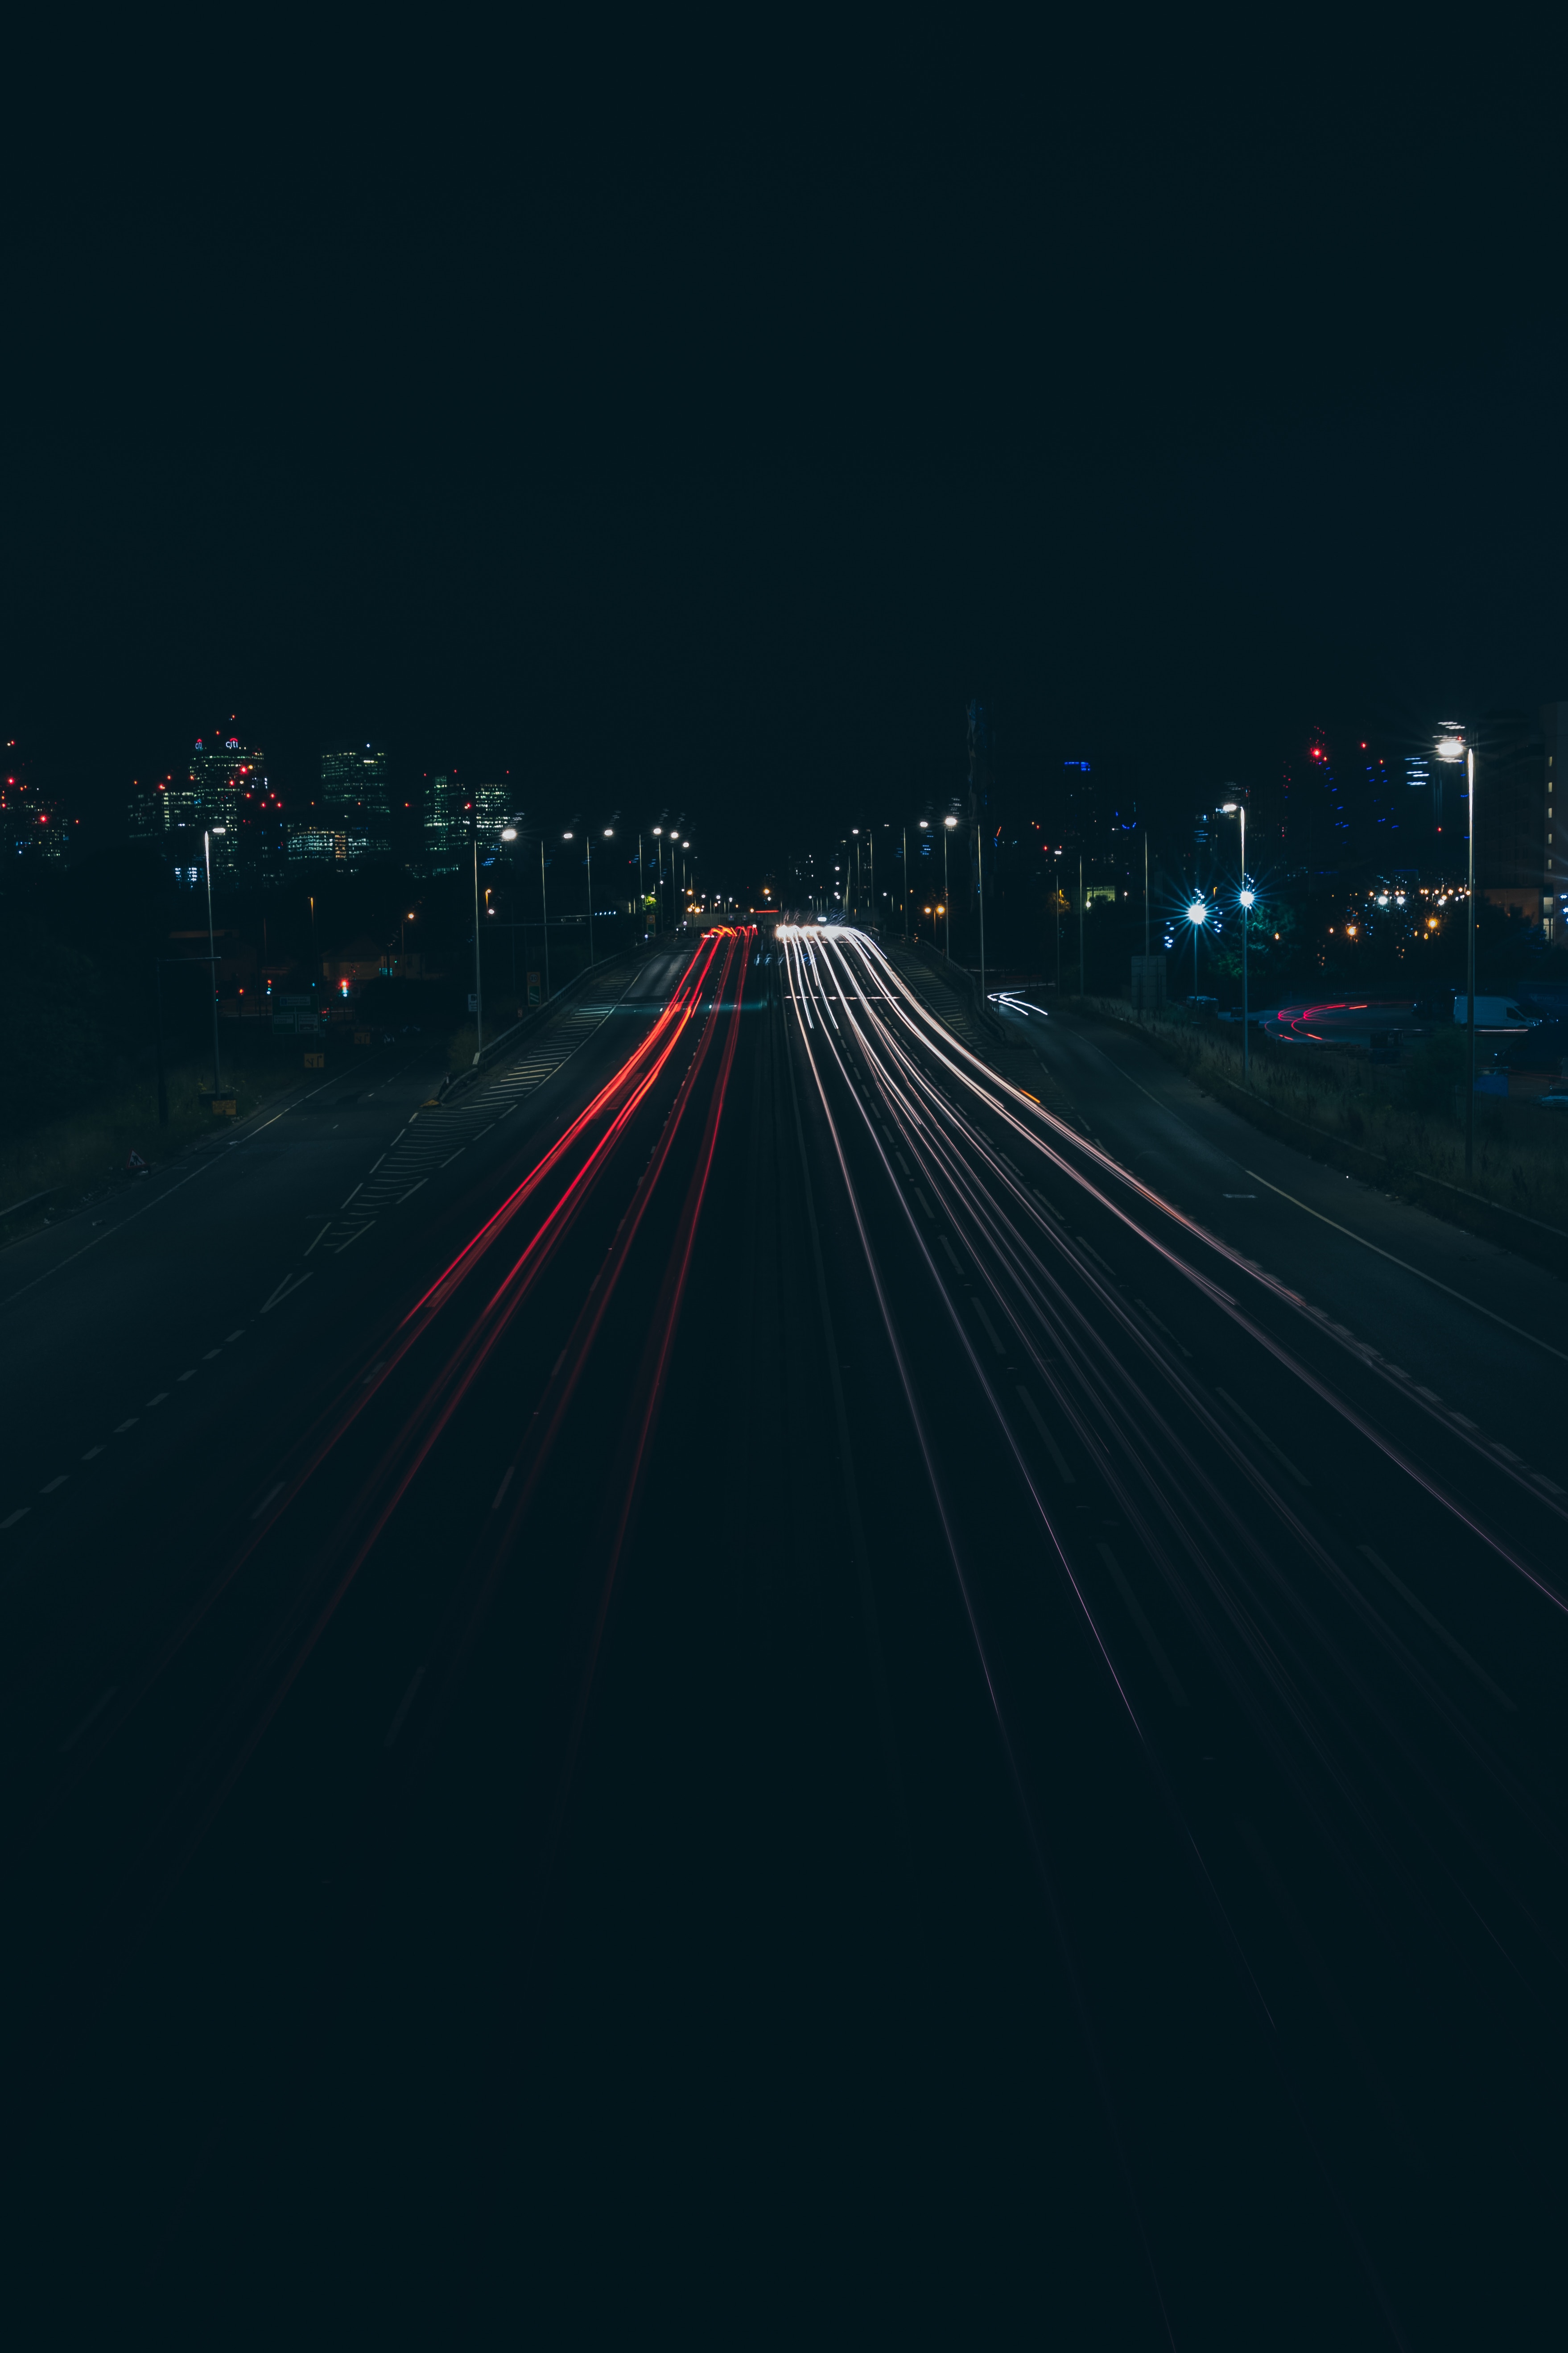
[[[1561,47],[1368,21],[14,52],[7,732],[748,866],[957,786],[973,692],[1175,800],[1566,694]]]

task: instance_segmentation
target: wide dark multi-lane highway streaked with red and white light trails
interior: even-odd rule
[[[1556,1287],[931,1002],[717,932],[0,1257],[61,2313],[1533,2334]]]

